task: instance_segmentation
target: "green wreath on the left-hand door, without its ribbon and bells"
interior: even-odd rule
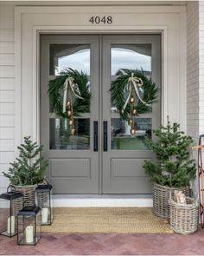
[[[82,113],[88,113],[90,111],[90,100],[92,96],[88,84],[88,77],[82,71],[79,72],[76,69],[68,68],[64,69],[54,80],[48,82],[49,101],[54,108],[55,114],[65,118],[68,117],[67,113],[63,113],[64,83],[68,77],[73,77],[73,82],[76,85],[75,92],[83,98],[73,98],[73,115],[80,116]]]

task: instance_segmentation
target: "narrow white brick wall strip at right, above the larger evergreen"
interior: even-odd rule
[[[187,3],[187,133],[199,135],[199,3]]]

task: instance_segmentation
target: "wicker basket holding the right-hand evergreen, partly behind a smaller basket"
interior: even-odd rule
[[[169,193],[181,190],[186,196],[189,195],[189,187],[166,187],[153,184],[153,213],[169,220]]]

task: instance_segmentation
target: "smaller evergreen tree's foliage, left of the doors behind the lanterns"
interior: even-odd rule
[[[43,174],[48,166],[48,161],[41,154],[43,146],[38,146],[36,142],[30,140],[30,136],[23,138],[23,144],[18,147],[19,157],[10,163],[8,174],[3,175],[10,179],[10,183],[15,186],[34,185],[43,181]]]

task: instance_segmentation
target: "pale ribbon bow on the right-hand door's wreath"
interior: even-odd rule
[[[141,86],[143,86],[143,80],[137,76],[134,76],[134,73],[131,73],[131,77],[129,77],[128,82],[126,84],[125,89],[129,92],[129,95],[126,99],[126,102],[124,103],[124,109],[127,107],[127,104],[131,98],[132,92],[135,92],[140,102],[143,102],[143,99],[139,95],[139,89],[141,90]],[[149,105],[146,102],[143,102],[144,105]]]

